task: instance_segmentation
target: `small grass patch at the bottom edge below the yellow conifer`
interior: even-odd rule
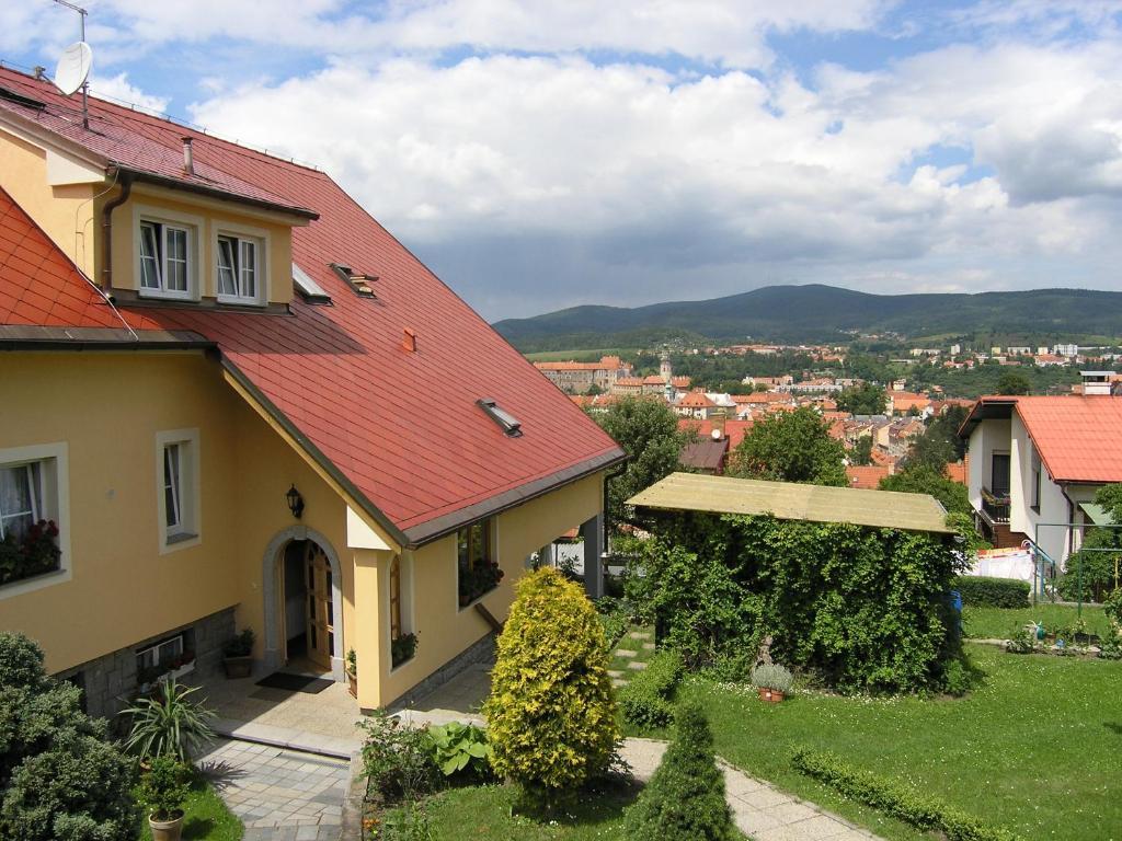
[[[450,788],[429,798],[429,825],[433,841],[624,841],[624,810],[637,794],[636,786],[605,784],[590,793],[581,792],[559,814],[535,820],[513,813],[512,786]]]

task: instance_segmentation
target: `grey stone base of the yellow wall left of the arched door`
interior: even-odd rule
[[[222,672],[222,646],[233,636],[233,608],[197,619],[190,625],[168,628],[147,639],[138,639],[127,648],[61,672],[56,677],[73,680],[85,691],[85,708],[91,715],[111,718],[129,705],[137,692],[137,650],[182,631],[192,631],[195,651],[192,683],[205,681]]]

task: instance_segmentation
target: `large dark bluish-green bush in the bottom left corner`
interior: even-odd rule
[[[80,696],[46,675],[35,643],[0,632],[0,839],[135,838],[132,763]]]

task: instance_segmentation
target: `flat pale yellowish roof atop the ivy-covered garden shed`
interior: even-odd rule
[[[628,499],[627,505],[954,534],[946,524],[947,512],[927,493],[671,473]]]

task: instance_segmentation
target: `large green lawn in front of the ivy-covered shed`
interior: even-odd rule
[[[1116,838],[1122,664],[967,648],[985,678],[959,700],[799,693],[772,705],[698,678],[679,699],[705,706],[730,763],[893,841],[929,837],[797,773],[794,748],[833,750],[1026,839]]]

